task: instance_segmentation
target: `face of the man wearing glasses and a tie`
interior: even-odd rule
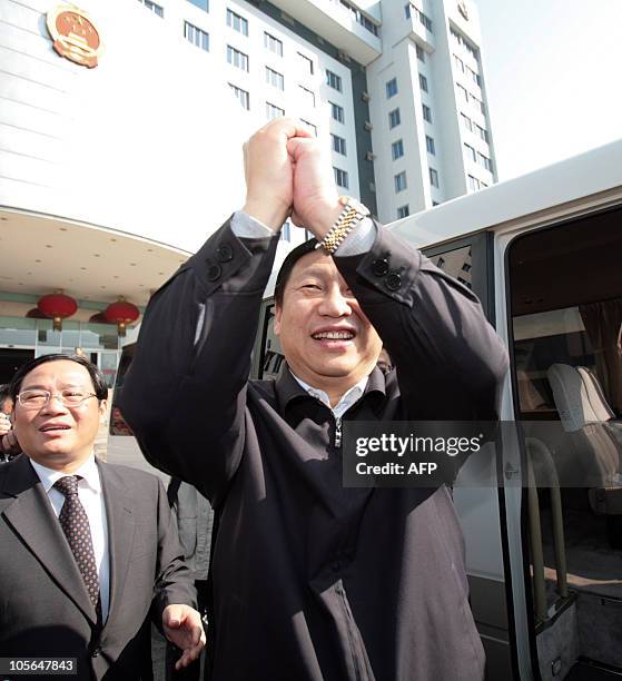
[[[89,372],[76,362],[47,362],[28,373],[20,393],[31,389],[60,393],[76,389],[95,393]],[[70,473],[92,452],[106,401],[89,397],[78,406],[66,406],[57,397],[39,409],[30,409],[16,401],[14,431],[22,451],[48,468]]]

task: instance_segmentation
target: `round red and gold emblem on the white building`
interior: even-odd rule
[[[90,17],[73,4],[59,4],[48,12],[48,31],[55,50],[80,66],[92,69],[102,45]]]

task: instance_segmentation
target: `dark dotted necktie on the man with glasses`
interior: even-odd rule
[[[99,578],[97,575],[97,563],[92,549],[91,529],[87,512],[78,497],[78,480],[80,478],[77,475],[67,475],[57,480],[53,485],[65,496],[65,503],[58,520],[87,585],[97,618],[101,620]]]

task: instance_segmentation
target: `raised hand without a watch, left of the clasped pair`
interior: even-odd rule
[[[246,204],[244,211],[278,231],[292,210],[294,167],[287,141],[308,138],[299,121],[278,118],[244,145]]]

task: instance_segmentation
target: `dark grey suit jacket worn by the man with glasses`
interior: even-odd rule
[[[77,658],[76,679],[148,678],[147,615],[151,610],[160,623],[169,603],[196,606],[191,574],[161,482],[135,468],[98,465],[110,559],[102,628],[30,460],[21,455],[0,466],[0,651]]]

